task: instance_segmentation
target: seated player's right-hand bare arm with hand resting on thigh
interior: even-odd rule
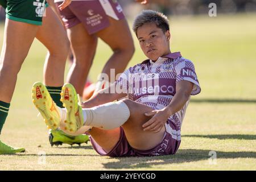
[[[144,131],[152,131],[154,133],[159,132],[167,119],[177,111],[183,108],[188,101],[193,89],[193,83],[189,81],[179,81],[176,84],[176,94],[172,98],[172,101],[167,107],[162,110],[154,110],[150,113],[145,113],[146,116],[153,116],[150,120],[144,123]]]

